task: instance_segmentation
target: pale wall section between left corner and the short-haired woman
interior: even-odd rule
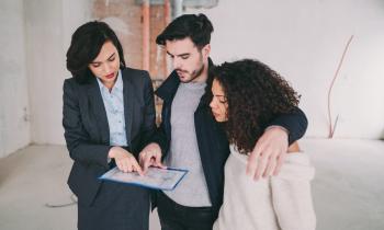
[[[63,82],[70,77],[66,51],[75,28],[88,21],[89,2],[24,1],[32,142],[64,143]]]

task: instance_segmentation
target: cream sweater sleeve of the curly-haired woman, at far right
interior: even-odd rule
[[[305,153],[289,153],[281,173],[272,177],[272,203],[282,230],[314,230],[310,181],[315,169]]]

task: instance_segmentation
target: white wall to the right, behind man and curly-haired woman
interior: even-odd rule
[[[327,92],[345,45],[354,38],[332,91],[335,137],[379,138],[384,129],[384,2],[382,0],[221,0],[188,9],[212,20],[216,64],[257,58],[302,94],[307,136],[326,137]]]

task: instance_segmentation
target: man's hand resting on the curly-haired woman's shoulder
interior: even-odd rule
[[[248,158],[247,174],[256,181],[278,175],[287,152],[289,136],[282,127],[268,128],[257,141]]]

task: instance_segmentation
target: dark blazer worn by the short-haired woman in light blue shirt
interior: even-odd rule
[[[154,90],[147,71],[126,68],[122,78],[126,149],[137,158],[156,130]],[[111,166],[110,130],[97,79],[87,84],[65,80],[63,101],[64,136],[75,161],[68,185],[79,204],[89,206],[102,183],[98,177]]]

